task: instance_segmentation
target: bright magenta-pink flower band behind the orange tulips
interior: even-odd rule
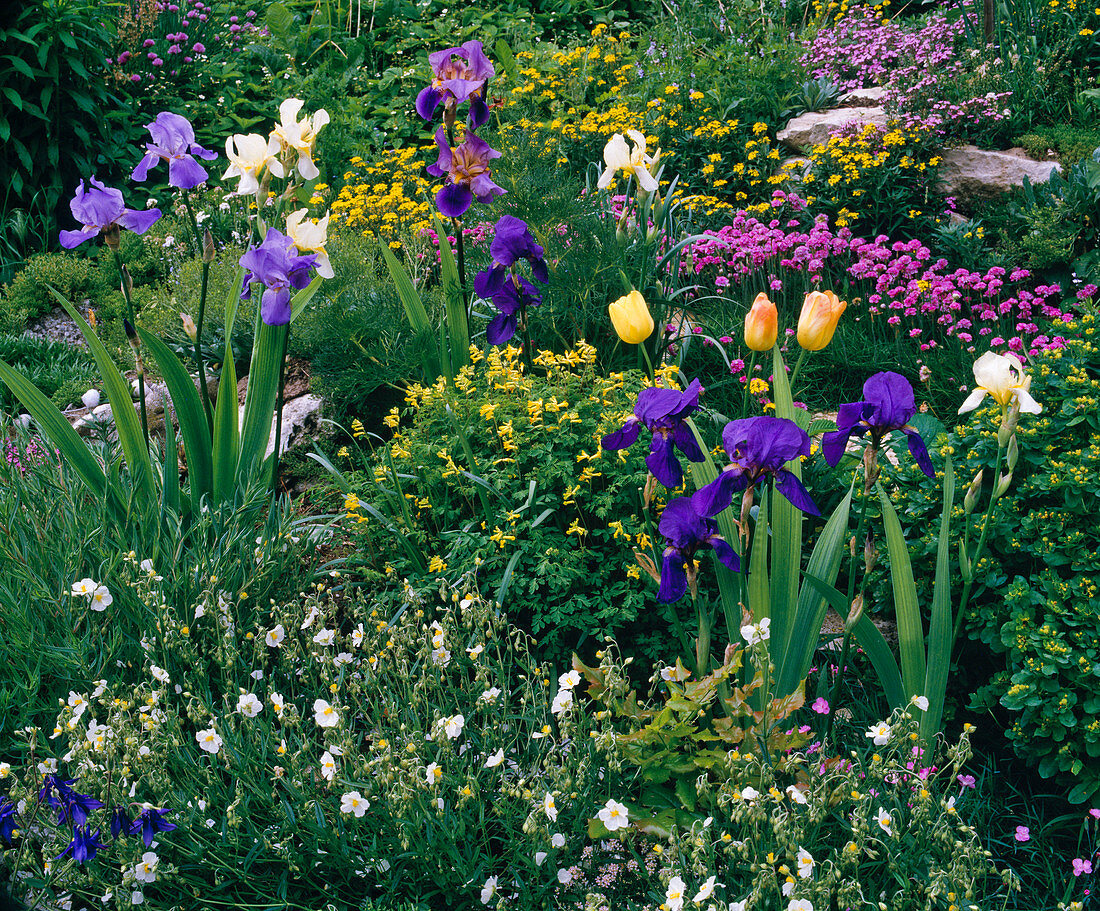
[[[805,210],[804,200],[782,190],[776,190],[772,205]],[[978,338],[983,348],[1007,345],[1030,353],[1062,348],[1065,340],[1044,334],[1043,325],[1074,316],[1059,304],[1057,285],[1027,287],[1027,270],[950,270],[917,240],[891,243],[881,234],[866,240],[847,228],[832,229],[826,216],[807,229],[798,218],[762,221],[743,211],[730,224],[705,233],[713,240],[691,246],[683,277],[708,279],[717,288],[724,286],[722,279],[772,294],[787,288],[792,299],[811,286],[847,287],[849,297],[860,299],[857,318],[866,314],[872,325],[884,322],[894,334],[913,339],[922,352],[947,339],[974,352]],[[1081,289],[1090,290],[1096,293],[1092,286]],[[1078,298],[1084,299],[1080,293]]]

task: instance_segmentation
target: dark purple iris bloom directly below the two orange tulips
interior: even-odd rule
[[[802,482],[784,468],[791,459],[810,454],[810,437],[793,420],[771,415],[732,420],[722,431],[722,443],[730,463],[695,492],[692,502],[701,513],[717,515],[730,504],[734,493],[756,486],[770,474],[776,490],[792,505],[812,516],[821,515]]]

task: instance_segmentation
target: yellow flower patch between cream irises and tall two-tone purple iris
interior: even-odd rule
[[[332,202],[333,227],[358,229],[365,238],[384,238],[399,246],[400,238],[431,228],[432,205],[424,168],[436,146],[393,149],[373,164],[350,162],[344,187]]]

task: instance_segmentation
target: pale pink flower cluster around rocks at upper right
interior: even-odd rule
[[[972,132],[1009,117],[1012,92],[966,90],[971,75],[979,75],[965,54],[967,17],[970,28],[977,28],[975,13],[949,22],[937,12],[913,30],[854,7],[835,26],[817,32],[802,64],[846,90],[886,86],[887,111],[899,125],[938,136]]]

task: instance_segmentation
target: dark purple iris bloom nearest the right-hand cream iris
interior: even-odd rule
[[[936,471],[924,440],[909,426],[914,414],[916,399],[909,380],[900,373],[876,373],[864,383],[864,400],[842,405],[836,417],[837,429],[822,438],[825,461],[831,465],[837,464],[844,458],[851,437],[858,439],[870,431],[871,442],[877,448],[887,433],[901,430],[909,437],[909,451],[921,471],[928,478],[935,478]]]

